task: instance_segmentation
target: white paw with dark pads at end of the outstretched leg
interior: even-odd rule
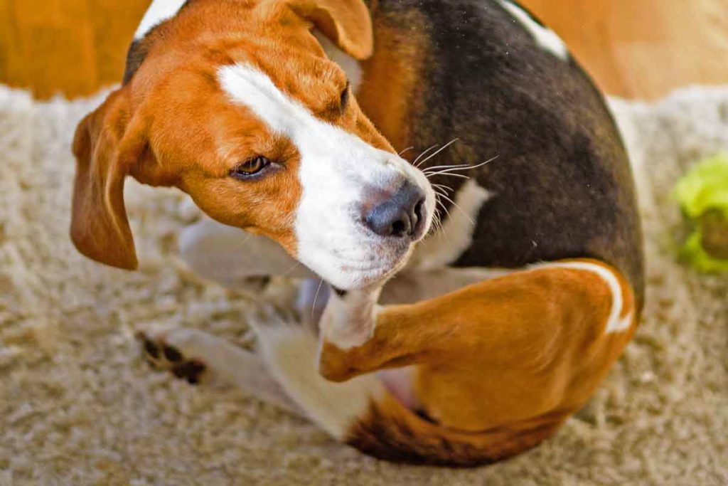
[[[194,331],[140,331],[136,333],[136,338],[141,344],[144,359],[154,369],[169,371],[192,385],[197,385],[205,377],[205,361],[202,357],[188,354]]]

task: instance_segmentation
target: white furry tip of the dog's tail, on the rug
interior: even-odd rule
[[[351,426],[365,416],[372,401],[387,393],[384,384],[373,374],[344,383],[321,377],[317,368],[317,339],[303,326],[283,321],[254,326],[271,374],[306,415],[334,438],[345,439]]]

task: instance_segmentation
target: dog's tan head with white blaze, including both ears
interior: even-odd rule
[[[182,189],[341,289],[400,268],[430,227],[434,193],[360,110],[312,28],[371,55],[362,0],[191,2],[151,31],[130,82],[76,130],[79,251],[136,267],[132,176]]]

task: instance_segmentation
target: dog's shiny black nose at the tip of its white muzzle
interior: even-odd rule
[[[416,235],[423,224],[424,193],[405,182],[391,199],[374,206],[364,221],[380,236],[405,238]]]

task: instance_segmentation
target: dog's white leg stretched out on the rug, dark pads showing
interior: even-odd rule
[[[143,353],[157,369],[169,369],[189,383],[213,380],[233,385],[276,407],[302,415],[256,353],[212,334],[175,327],[139,332]]]

